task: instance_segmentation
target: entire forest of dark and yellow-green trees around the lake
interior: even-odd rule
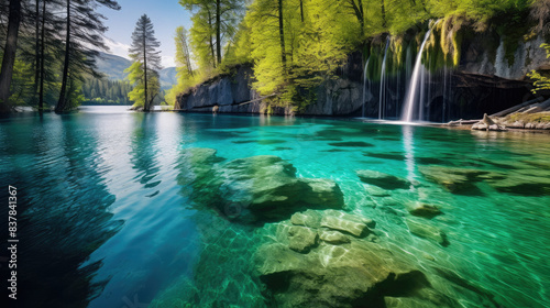
[[[193,13],[193,26],[175,30],[178,84],[165,96],[169,105],[174,105],[179,94],[217,75],[229,74],[242,64],[253,66],[257,92],[276,94],[272,103],[307,105],[315,100],[311,89],[333,78],[351,52],[360,51],[366,56],[374,48],[372,43],[381,36],[398,36],[410,29],[425,28],[430,20],[442,19],[439,26],[446,29],[447,35],[441,37],[441,45],[448,59],[446,65],[452,66],[459,61],[458,33],[462,26],[474,31],[494,28],[513,45],[514,40],[534,31],[548,33],[550,15],[548,0],[179,0],[179,3]],[[64,112],[98,97],[100,101],[117,102],[128,98],[136,108],[150,109],[147,105],[161,91],[157,77],[161,67],[160,45],[146,15],[140,19],[132,36],[130,56],[135,65],[128,70],[132,90],[109,81],[98,81],[102,88],[86,85],[86,80],[101,77],[95,69],[95,57],[97,48],[106,50],[107,29],[103,16],[97,12],[99,6],[120,9],[112,0],[0,1],[3,111],[23,105],[38,110],[55,106],[57,112]],[[147,40],[144,52],[140,51],[143,47],[139,45],[140,37]],[[548,87],[547,76],[536,72],[530,76],[539,88]]]

